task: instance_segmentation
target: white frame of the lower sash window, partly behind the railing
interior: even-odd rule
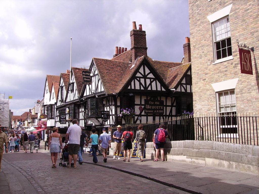
[[[221,117],[221,116],[224,116],[224,115],[236,116],[236,98],[235,98],[235,100],[233,100],[233,99],[230,100],[230,98],[228,98],[229,99],[228,101],[222,101],[222,102],[219,101],[219,94],[220,93],[223,93],[223,95],[224,95],[224,93],[228,92],[228,96],[230,96],[229,93],[232,92],[232,91],[234,91],[234,95],[236,95],[235,89],[219,91],[219,92],[216,93],[216,103],[217,103],[217,115],[218,115],[218,117]],[[233,106],[233,103],[230,103],[231,101],[235,101],[234,106]],[[224,110],[224,111],[220,112],[220,108],[219,108],[220,103],[222,103],[223,106],[225,106],[225,105],[229,106],[230,109],[231,109],[231,107],[235,107],[235,110],[230,110],[230,111]],[[220,118],[218,118],[218,123],[221,124]],[[222,130],[221,130],[222,128],[237,128],[237,130],[238,130],[237,123],[236,123],[236,125],[219,125],[219,129],[218,129],[219,136],[218,137],[219,138],[238,138],[238,131],[237,131],[237,133],[223,133]]]

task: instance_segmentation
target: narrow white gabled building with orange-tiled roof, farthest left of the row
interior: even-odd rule
[[[55,103],[57,88],[59,86],[59,76],[47,75],[44,88],[44,112],[47,115],[47,129],[55,126]]]

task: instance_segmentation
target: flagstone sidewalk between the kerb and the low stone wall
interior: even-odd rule
[[[85,155],[88,154],[83,155],[84,162],[93,164],[92,157]],[[149,159],[140,162],[137,158],[131,158],[130,162],[123,162],[123,158],[120,160],[112,160],[112,156],[107,158],[107,163],[104,163],[103,156],[100,155],[98,163],[93,165],[144,177],[190,193],[259,194],[259,176],[255,174],[181,162],[154,162]]]

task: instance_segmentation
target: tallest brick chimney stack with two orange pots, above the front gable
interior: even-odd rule
[[[135,59],[143,55],[147,56],[147,40],[146,31],[142,31],[142,25],[139,25],[137,30],[136,22],[133,21],[133,29],[130,32],[131,37],[131,50],[132,50],[132,63]]]

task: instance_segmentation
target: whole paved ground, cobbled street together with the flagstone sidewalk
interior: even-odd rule
[[[51,168],[44,146],[39,153],[3,154],[0,193],[259,193],[259,176],[254,174],[180,162],[107,158],[104,163],[100,155],[94,164],[85,153],[77,168]]]

